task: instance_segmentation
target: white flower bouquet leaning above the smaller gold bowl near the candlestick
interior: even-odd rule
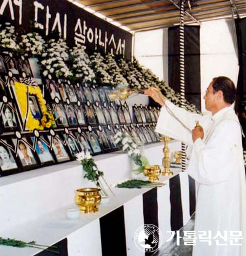
[[[138,165],[138,168],[133,170],[135,173],[139,174],[143,172],[145,166],[149,165],[149,160],[145,155],[142,155],[141,150],[129,134],[118,131],[114,136],[114,142],[122,148],[122,151],[127,152],[133,162]]]

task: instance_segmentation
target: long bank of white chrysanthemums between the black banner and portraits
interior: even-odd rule
[[[94,52],[91,56],[84,46],[69,48],[60,39],[44,39],[38,33],[17,35],[10,23],[1,26],[0,47],[12,49],[28,56],[41,56],[42,73],[55,78],[95,82],[98,86],[117,86],[123,84],[130,88],[146,89],[156,86],[174,104],[180,104],[180,94],[164,81],[159,80],[148,68],[141,66],[137,59],[124,60],[122,56],[104,56]],[[18,44],[19,43],[19,44]],[[20,46],[19,46],[20,45]],[[195,105],[185,101],[186,109],[199,112]]]

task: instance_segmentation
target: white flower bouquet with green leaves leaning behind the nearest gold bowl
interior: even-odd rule
[[[106,186],[109,188],[111,193],[114,195],[111,188],[108,186],[108,183],[106,182],[103,171],[98,170],[98,167],[96,163],[94,162],[92,156],[90,155],[90,152],[80,152],[76,155],[76,159],[78,162],[82,164],[83,170],[85,171],[84,178],[87,178],[87,180],[92,181],[95,183],[95,185],[101,189],[101,193],[103,196],[108,196],[105,186],[103,183],[106,184]]]

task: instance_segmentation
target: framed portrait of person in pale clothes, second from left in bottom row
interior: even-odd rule
[[[22,140],[17,141],[17,139],[12,139],[14,146],[17,146],[17,155],[22,163],[23,168],[34,168],[38,165],[37,160],[34,156],[34,151],[30,147],[30,142],[27,138],[22,138]]]

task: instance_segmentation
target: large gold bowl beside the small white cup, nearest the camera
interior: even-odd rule
[[[101,202],[98,188],[81,188],[76,190],[75,202],[84,213],[98,212],[97,205]]]

